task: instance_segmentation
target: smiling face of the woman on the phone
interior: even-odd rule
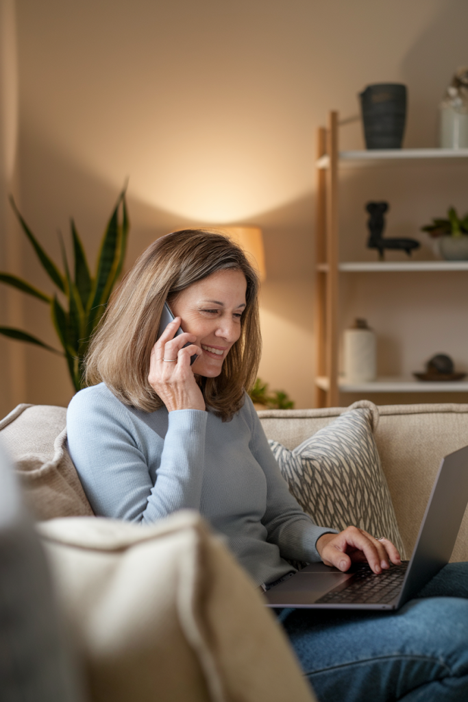
[[[229,349],[241,336],[246,308],[247,281],[239,270],[220,270],[183,290],[171,309],[182,317],[182,330],[196,336],[202,349],[192,369],[196,375],[215,378]]]

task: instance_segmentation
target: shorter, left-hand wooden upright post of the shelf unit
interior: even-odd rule
[[[326,155],[327,131],[317,129],[317,160]],[[326,263],[326,171],[317,168],[316,191],[316,232],[315,232],[315,291],[314,291],[314,336],[315,336],[315,376],[326,375],[326,272],[319,265]],[[314,387],[314,406],[326,406],[326,392]]]

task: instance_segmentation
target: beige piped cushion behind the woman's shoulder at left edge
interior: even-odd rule
[[[65,407],[19,404],[0,421],[0,437],[36,519],[93,515],[67,450]]]

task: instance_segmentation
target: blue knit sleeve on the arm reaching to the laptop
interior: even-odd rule
[[[319,527],[300,507],[290,494],[286,480],[281,475],[272,449],[249,397],[252,439],[250,451],[262,466],[267,479],[267,509],[262,524],[267,529],[267,541],[276,543],[283,558],[317,562],[321,560],[316,542],[323,534],[337,534],[336,529]]]

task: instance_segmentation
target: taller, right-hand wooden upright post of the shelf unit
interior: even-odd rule
[[[326,170],[326,375],[327,406],[339,404],[338,390],[338,113],[328,116]]]

